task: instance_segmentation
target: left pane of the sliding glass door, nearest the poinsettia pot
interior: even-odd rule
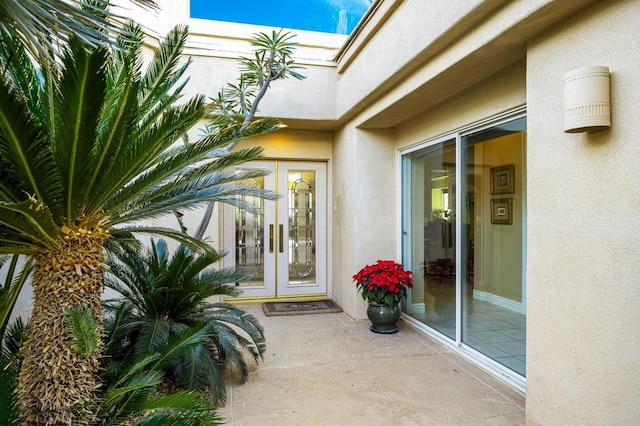
[[[414,288],[408,314],[456,335],[456,143],[449,140],[403,157],[405,233]]]

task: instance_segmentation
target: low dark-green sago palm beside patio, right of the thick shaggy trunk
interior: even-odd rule
[[[146,255],[124,249],[107,263],[105,286],[122,296],[105,303],[114,314],[108,322],[107,354],[132,362],[163,353],[170,342],[190,330],[206,328],[206,340],[166,365],[167,378],[187,390],[209,392],[218,404],[226,398],[227,371],[248,376],[245,353],[258,361],[265,337],[258,320],[242,309],[207,299],[238,296],[235,283],[246,280],[236,269],[212,269],[220,256],[181,245],[170,253],[164,240],[151,243]]]

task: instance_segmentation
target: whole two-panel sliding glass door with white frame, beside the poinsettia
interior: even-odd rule
[[[525,376],[526,120],[402,155],[405,311],[479,360]]]

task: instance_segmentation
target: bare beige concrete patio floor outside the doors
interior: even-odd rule
[[[227,424],[523,425],[524,395],[401,321],[380,335],[344,313],[267,317],[264,361],[229,383]]]

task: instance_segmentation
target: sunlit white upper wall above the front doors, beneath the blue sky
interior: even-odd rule
[[[227,83],[240,76],[239,58],[251,57],[250,40],[256,33],[271,34],[279,29],[259,25],[191,19],[189,0],[159,2],[161,9],[151,11],[136,7],[127,0],[117,0],[122,9],[114,12],[133,16],[147,34],[149,46],[157,46],[176,25],[188,25],[185,56],[193,61],[187,71],[191,76],[185,95],[201,93],[215,97]],[[346,36],[302,30],[290,31],[297,43],[296,65],[303,66],[304,80],[289,78],[271,85],[260,104],[258,115],[278,117],[291,127],[326,129],[336,120],[336,63],[333,58]],[[300,94],[298,96],[297,94]]]

